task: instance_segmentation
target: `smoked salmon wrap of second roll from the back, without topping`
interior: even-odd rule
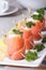
[[[42,36],[40,34],[40,30],[39,30],[39,28],[36,26],[34,26],[34,27],[31,28],[31,32],[33,34],[33,39],[34,40],[42,39]]]

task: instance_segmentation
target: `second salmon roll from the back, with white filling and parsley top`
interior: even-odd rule
[[[33,40],[40,40],[42,39],[41,34],[41,26],[37,20],[34,20],[33,18],[27,19],[26,27],[30,28],[30,31],[32,32]]]

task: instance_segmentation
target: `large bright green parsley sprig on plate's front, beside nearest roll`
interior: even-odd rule
[[[36,58],[37,58],[36,52],[28,51],[28,53],[26,54],[26,60],[28,61],[35,60]]]

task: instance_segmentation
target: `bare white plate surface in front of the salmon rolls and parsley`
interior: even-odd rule
[[[0,65],[18,66],[18,67],[39,67],[46,56],[46,47],[37,54],[40,58],[33,61],[27,61],[26,59],[11,60],[10,58],[5,57],[3,61],[0,61]]]

